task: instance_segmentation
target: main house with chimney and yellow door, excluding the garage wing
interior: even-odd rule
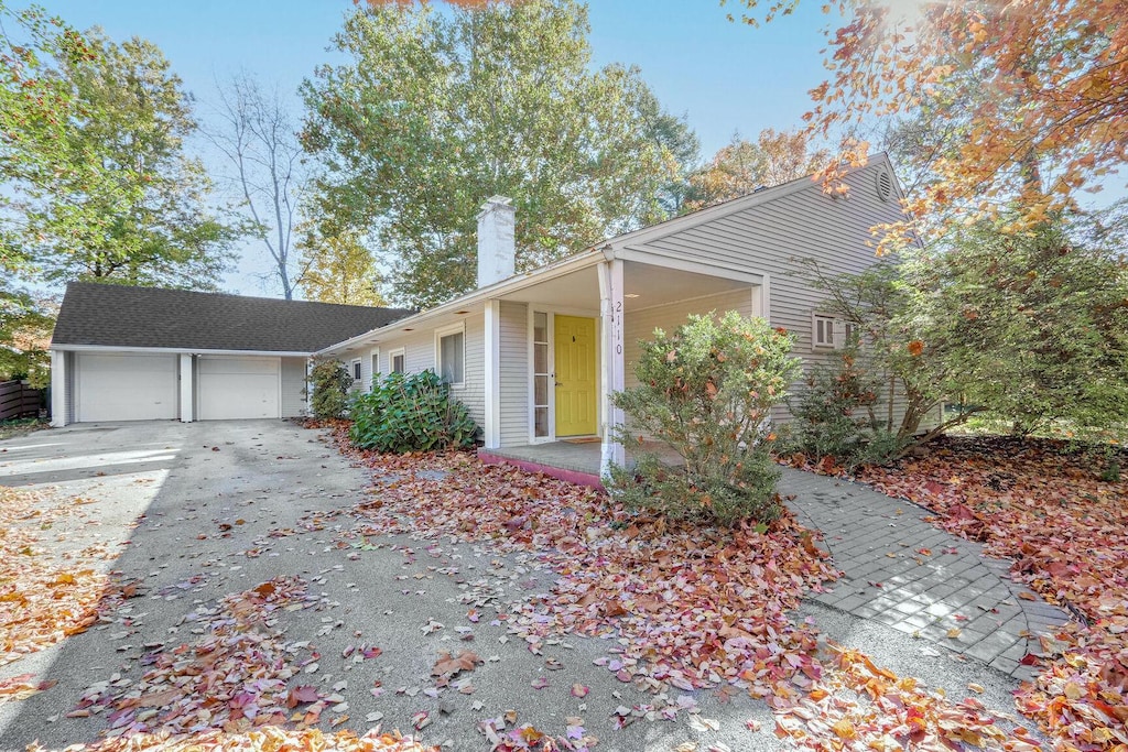
[[[737,310],[795,334],[805,363],[843,345],[846,322],[823,308],[795,259],[861,272],[875,260],[871,228],[902,218],[884,154],[845,182],[845,196],[811,178],[760,189],[526,273],[514,269],[514,211],[495,197],[478,216],[476,290],[316,355],[351,364],[363,383],[434,369],[482,426],[488,459],[536,466],[552,457],[559,466],[583,452],[589,460],[574,468],[583,474],[592,451],[559,442],[591,442],[606,470],[625,459],[610,440],[609,426],[624,419],[610,395],[634,383],[638,340],[656,327]]]

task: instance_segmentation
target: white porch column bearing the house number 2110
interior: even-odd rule
[[[626,452],[615,441],[616,426],[623,425],[623,410],[611,402],[611,395],[625,384],[623,355],[623,260],[608,258],[599,265],[599,312],[602,316],[602,373],[600,386],[603,395],[603,442],[599,458],[599,475],[606,478],[611,462],[624,465]]]

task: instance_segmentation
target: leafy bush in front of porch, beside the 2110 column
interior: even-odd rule
[[[690,316],[671,336],[643,342],[640,386],[615,395],[627,414],[618,439],[633,469],[613,467],[611,494],[671,517],[733,525],[779,516],[768,416],[799,372],[792,338],[759,318],[730,311]],[[643,440],[668,445],[685,461],[663,463]]]

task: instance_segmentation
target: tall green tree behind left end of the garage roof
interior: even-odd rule
[[[210,184],[184,153],[191,97],[153,44],[94,29],[88,56],[49,77],[71,103],[9,144],[5,237],[42,280],[214,287],[235,236],[210,211]]]

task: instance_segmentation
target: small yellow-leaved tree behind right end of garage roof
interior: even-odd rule
[[[328,237],[316,231],[301,240],[301,277],[298,286],[307,300],[345,306],[384,306],[376,258],[359,235],[342,230]]]

